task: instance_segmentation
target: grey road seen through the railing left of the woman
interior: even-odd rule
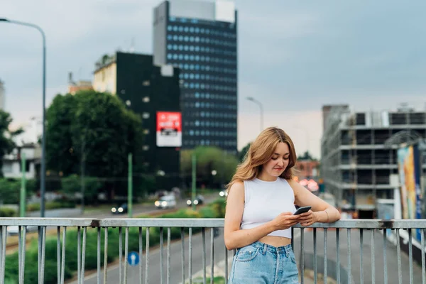
[[[221,234],[214,239],[214,263],[224,262],[225,259],[225,249],[224,249],[224,238],[222,234],[222,229],[220,229]],[[206,229],[206,238],[205,238],[205,247],[206,247],[206,266],[210,266],[210,250],[211,238],[210,231]],[[175,241],[170,244],[170,284],[182,283],[182,242]],[[192,275],[200,274],[200,271],[203,269],[203,243],[202,243],[202,234],[195,234],[192,236]],[[145,251],[143,256],[142,263],[142,273],[143,273],[143,283],[145,283]],[[189,269],[189,238],[185,238],[185,279],[188,277]],[[233,256],[232,251],[228,251],[228,257]],[[163,249],[163,281],[166,283],[167,276],[167,246]],[[229,266],[230,266],[229,262]],[[149,283],[162,283],[160,281],[160,249],[151,249],[149,252],[149,264],[148,264],[148,280]],[[108,283],[121,283],[119,281],[119,266],[109,266],[108,268]],[[207,275],[210,270],[208,268]],[[124,270],[123,270],[124,273]],[[128,278],[127,283],[139,283],[139,266],[128,266]],[[101,283],[103,283],[104,276],[103,271],[101,273]],[[216,275],[216,274],[214,274]],[[96,284],[97,283],[97,273],[92,275],[87,275],[84,279],[84,283]],[[72,282],[72,284],[77,284],[77,281]]]

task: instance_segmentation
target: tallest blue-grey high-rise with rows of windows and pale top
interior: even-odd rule
[[[154,9],[155,64],[179,67],[182,148],[236,152],[237,12],[233,1],[170,0]]]

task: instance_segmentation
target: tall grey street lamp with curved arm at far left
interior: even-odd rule
[[[45,217],[45,177],[46,177],[46,146],[45,146],[45,97],[46,97],[46,37],[44,31],[33,23],[25,23],[21,21],[13,21],[7,18],[0,18],[0,22],[14,23],[20,26],[28,26],[30,28],[35,28],[41,33],[43,39],[43,131],[41,138],[41,169],[40,169],[40,217]]]

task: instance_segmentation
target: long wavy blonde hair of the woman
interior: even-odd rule
[[[280,178],[285,178],[286,180],[292,179],[293,166],[297,160],[293,141],[283,129],[269,127],[263,130],[256,140],[251,143],[243,162],[236,167],[236,173],[232,177],[231,182],[226,185],[228,192],[235,182],[253,180],[253,178],[256,178],[258,174],[261,173],[262,166],[271,159],[275,148],[280,142],[286,143],[290,150],[288,166],[280,175]]]

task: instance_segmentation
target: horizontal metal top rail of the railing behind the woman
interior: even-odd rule
[[[92,226],[92,227],[223,227],[224,219],[84,219],[84,218],[0,218],[0,226]],[[294,226],[302,228],[300,224]],[[349,219],[334,223],[315,223],[311,228],[340,229],[426,229],[426,219]]]

